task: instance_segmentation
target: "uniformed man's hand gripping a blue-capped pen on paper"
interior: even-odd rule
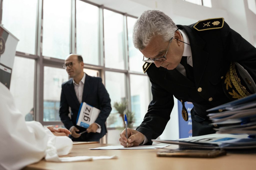
[[[126,142],[128,141],[128,147],[138,146],[144,141],[144,135],[134,129],[127,128],[128,140],[125,136],[125,129],[120,134],[119,142],[123,147],[127,147]]]

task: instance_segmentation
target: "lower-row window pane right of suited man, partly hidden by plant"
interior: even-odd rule
[[[114,102],[121,102],[125,99],[125,75],[118,72],[105,72],[105,87],[111,99],[112,111],[107,119],[108,127],[124,127],[123,119],[114,108]]]

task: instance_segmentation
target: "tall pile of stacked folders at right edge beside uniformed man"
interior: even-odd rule
[[[218,110],[224,110],[219,112]],[[256,135],[256,94],[238,99],[207,111],[212,124],[219,125],[216,133]]]

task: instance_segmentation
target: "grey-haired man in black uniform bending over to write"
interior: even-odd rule
[[[224,18],[175,25],[161,11],[147,10],[136,21],[133,43],[143,54],[144,73],[153,100],[136,130],[120,134],[126,147],[152,144],[162,134],[177,98],[192,102],[192,135],[215,133],[206,110],[256,92],[256,48],[232,30]],[[219,110],[221,112],[222,110]],[[217,125],[215,125],[217,126]]]

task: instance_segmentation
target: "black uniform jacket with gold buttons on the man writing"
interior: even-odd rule
[[[142,132],[150,143],[151,139],[162,134],[170,119],[174,106],[173,96],[179,101],[193,103],[194,107],[190,112],[193,136],[215,133],[213,126],[209,125],[212,122],[208,120],[206,110],[231,101],[222,87],[230,62],[241,64],[254,82],[256,80],[256,48],[226,22],[223,21],[222,28],[202,31],[193,26],[195,24],[177,25],[189,38],[194,81],[190,81],[176,69],[157,68],[154,63],[146,70],[152,83],[153,100],[136,130]]]

